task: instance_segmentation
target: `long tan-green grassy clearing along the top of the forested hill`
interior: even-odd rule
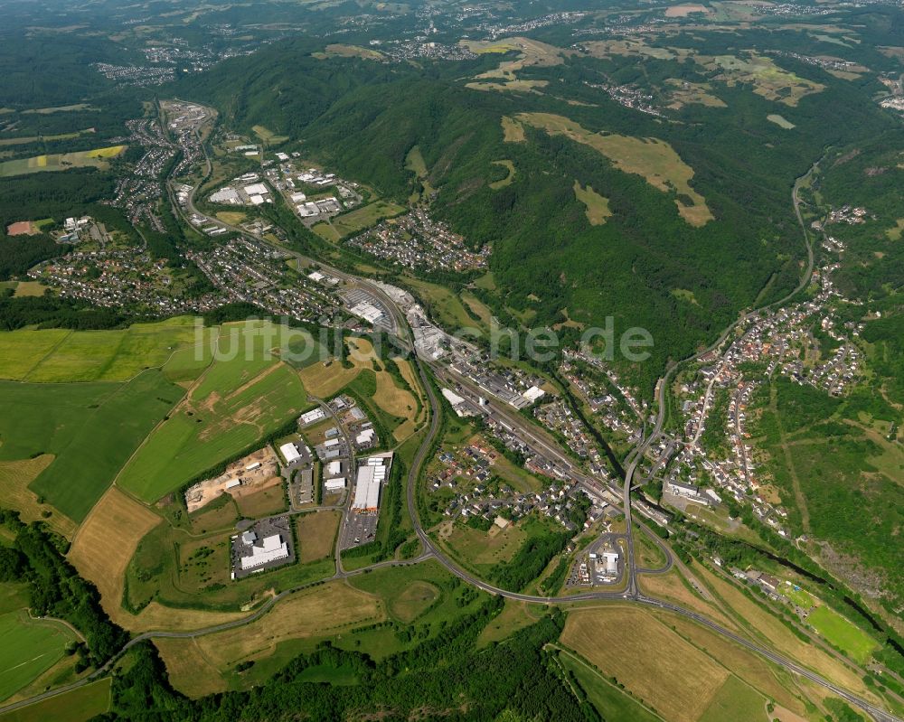
[[[591,133],[567,117],[550,113],[519,113],[517,118],[525,125],[545,130],[551,136],[566,136],[577,143],[589,145],[612,161],[618,170],[643,176],[659,191],[676,192],[678,212],[692,226],[704,226],[713,220],[706,201],[691,187],[693,169],[668,143],[657,138]]]

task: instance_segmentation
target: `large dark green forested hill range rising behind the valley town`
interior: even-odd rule
[[[689,36],[672,42],[712,50]],[[519,70],[519,79],[545,82],[542,92],[499,92],[466,87],[495,67],[498,54],[415,65],[318,60],[313,50],[307,41],[274,43],[177,90],[221,108],[231,126],[263,125],[301,140],[306,155],[400,200],[415,188],[405,166],[418,146],[438,191],[433,212],[474,246],[494,244],[498,291],[485,301],[511,323],[560,323],[567,309],[572,321],[588,325],[612,315],[617,333],[645,327],[654,335],[654,359],[633,375],[646,393],[670,359],[712,341],[755,300],[777,299],[796,285],[805,248],[791,203],[795,178],[826,147],[894,127],[872,103],[869,83],[841,83],[784,58],[787,72],[824,89],[789,108],[743,83],[720,84],[724,107],[687,105],[664,119],[591,88],[606,67],[597,58],[564,54],[555,67]],[[707,80],[690,62],[645,59],[643,73]],[[767,119],[777,106],[794,118],[793,135]],[[528,114],[516,122],[523,140],[506,142],[503,118],[521,114]],[[692,199],[671,178],[657,188],[619,170],[597,148],[575,142],[575,133],[551,131],[549,117],[587,137],[669,144],[692,173],[688,192],[714,220],[685,220],[679,209]],[[513,164],[512,183],[491,188],[506,175],[494,164],[503,160]],[[608,200],[605,223],[590,223],[576,182]]]

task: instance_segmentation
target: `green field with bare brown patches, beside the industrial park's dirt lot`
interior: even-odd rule
[[[178,489],[275,431],[306,404],[297,373],[266,358],[214,361],[130,459],[118,483],[145,502]]]

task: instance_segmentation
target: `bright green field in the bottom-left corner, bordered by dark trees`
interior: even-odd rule
[[[24,609],[0,614],[0,700],[49,670],[74,641],[69,627],[32,619]]]

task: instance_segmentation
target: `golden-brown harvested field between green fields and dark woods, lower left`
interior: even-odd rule
[[[110,618],[123,616],[126,568],[138,542],[161,522],[146,506],[111,487],[81,524],[69,560],[81,577],[98,587]]]

